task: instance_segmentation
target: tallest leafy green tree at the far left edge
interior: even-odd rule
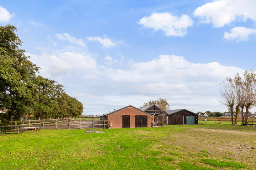
[[[9,120],[14,113],[27,110],[25,103],[32,102],[27,84],[39,69],[19,49],[22,42],[16,30],[11,25],[0,26],[0,108],[8,110]]]

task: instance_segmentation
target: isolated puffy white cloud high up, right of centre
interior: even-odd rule
[[[193,20],[187,15],[176,17],[169,12],[155,12],[148,17],[143,17],[138,23],[145,28],[162,30],[167,36],[185,36],[187,28],[193,25]]]

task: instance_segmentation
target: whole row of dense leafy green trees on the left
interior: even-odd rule
[[[16,27],[0,26],[0,110],[8,119],[57,118],[81,115],[83,106],[63,85],[44,78],[19,47]]]

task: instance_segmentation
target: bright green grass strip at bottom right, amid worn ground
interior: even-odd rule
[[[215,167],[232,167],[232,168],[246,168],[244,164],[229,161],[220,161],[216,159],[202,159],[203,162]]]

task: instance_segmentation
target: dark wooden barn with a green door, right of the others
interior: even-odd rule
[[[198,115],[186,109],[165,111],[169,125],[198,124]]]

